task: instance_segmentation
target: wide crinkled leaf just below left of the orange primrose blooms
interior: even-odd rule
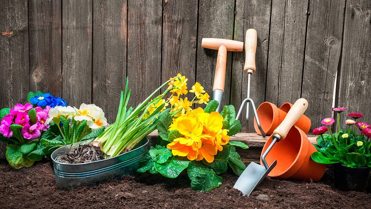
[[[181,158],[172,156],[165,163],[160,164],[154,162],[153,164],[155,165],[158,173],[161,173],[162,176],[176,178],[185,168],[188,167],[189,163],[189,160],[183,160]]]

